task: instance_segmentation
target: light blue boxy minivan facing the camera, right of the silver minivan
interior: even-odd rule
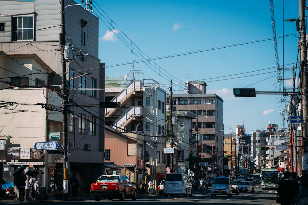
[[[216,196],[216,195],[232,196],[232,185],[230,177],[227,176],[215,177],[212,184],[211,196]]]

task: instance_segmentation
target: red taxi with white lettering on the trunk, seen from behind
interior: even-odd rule
[[[90,194],[95,197],[95,201],[102,197],[109,200],[119,198],[120,201],[132,197],[132,200],[136,200],[137,188],[125,175],[101,175],[96,183],[91,184]]]

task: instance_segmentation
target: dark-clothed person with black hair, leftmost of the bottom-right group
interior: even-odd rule
[[[292,205],[295,197],[295,188],[292,179],[292,172],[285,171],[285,176],[278,185],[276,203],[281,203],[281,205]]]

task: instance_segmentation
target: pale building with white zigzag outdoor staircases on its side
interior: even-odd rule
[[[106,124],[121,132],[144,135],[146,143],[138,144],[137,160],[145,163],[138,163],[135,173],[144,179],[147,172],[155,182],[166,172],[166,92],[158,82],[144,79],[142,71],[134,70],[123,79],[107,81],[105,94],[106,102],[118,103],[118,108],[105,109]]]

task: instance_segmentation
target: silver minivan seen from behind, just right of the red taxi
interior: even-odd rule
[[[174,195],[193,196],[193,185],[184,173],[167,173],[165,175],[164,197]]]

